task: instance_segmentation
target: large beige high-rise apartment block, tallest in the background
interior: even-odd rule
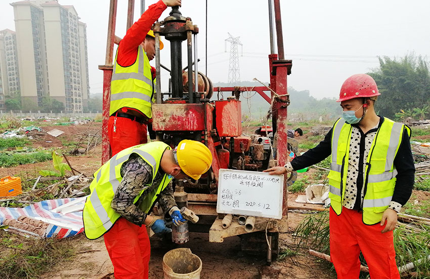
[[[49,96],[66,112],[87,105],[88,55],[86,25],[73,6],[58,0],[20,1],[15,12],[23,110]],[[34,108],[33,108],[34,109]]]

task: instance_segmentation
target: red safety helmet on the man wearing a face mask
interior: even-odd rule
[[[351,100],[354,98],[369,98],[381,95],[374,79],[365,73],[351,75],[340,88],[339,100],[336,102]]]

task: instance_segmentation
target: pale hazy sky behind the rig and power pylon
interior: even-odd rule
[[[109,13],[108,0],[60,0],[74,5],[80,20],[87,23],[91,93],[102,92]],[[15,30],[10,0],[0,0],[0,30]],[[155,1],[146,0],[146,6]],[[199,70],[205,70],[205,1],[182,0],[183,16],[199,26]],[[125,34],[127,1],[118,0],[116,35]],[[162,15],[164,19],[170,8]],[[309,90],[316,98],[335,97],[345,79],[378,66],[377,56],[400,57],[408,52],[430,54],[430,1],[428,0],[281,0],[285,58],[293,60],[288,86]],[[140,16],[136,0],[135,21]],[[212,82],[227,82],[229,53],[224,40],[230,32],[240,36],[241,81],[269,81],[270,53],[267,0],[208,0],[208,76]],[[229,45],[228,45],[229,47]],[[186,44],[183,44],[186,52]],[[183,64],[185,66],[185,56]],[[170,67],[169,46],[161,51],[161,63]],[[155,60],[151,62],[155,66]],[[168,74],[161,70],[162,89]]]

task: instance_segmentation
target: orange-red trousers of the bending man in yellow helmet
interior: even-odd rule
[[[115,279],[148,279],[151,245],[145,225],[120,217],[103,236]]]

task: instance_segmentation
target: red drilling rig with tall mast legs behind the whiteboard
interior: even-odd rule
[[[255,218],[252,230],[245,230],[233,218],[228,228],[223,228],[223,214],[218,214],[217,194],[220,169],[263,171],[271,166],[287,163],[287,75],[291,73],[291,60],[284,59],[280,0],[269,2],[269,30],[271,53],[268,55],[270,85],[254,87],[271,106],[273,135],[276,148],[263,134],[243,136],[240,94],[245,87],[213,88],[210,78],[198,71],[197,36],[199,29],[190,17],[172,7],[169,16],[152,26],[156,49],[156,102],[152,104],[152,129],[155,140],[176,146],[183,139],[204,143],[212,153],[212,167],[197,181],[186,179],[175,181],[175,198],[178,205],[186,206],[199,217],[199,222],[189,224],[189,231],[209,233],[210,242],[223,242],[225,237],[239,235],[242,249],[267,253],[271,262],[278,254],[279,233],[288,229],[287,186],[294,183],[296,173],[284,179],[282,219]],[[274,9],[272,9],[272,5]],[[104,71],[103,127],[107,128],[110,104],[110,80],[115,36],[117,0],[110,2],[106,64],[99,66]],[[274,13],[273,13],[274,10]],[[128,0],[127,28],[133,23],[134,0]],[[273,22],[273,18],[275,21]],[[278,54],[274,48],[273,24],[276,26]],[[161,91],[160,37],[170,42],[170,85],[169,92]],[[186,41],[187,61],[183,69],[182,45]],[[194,51],[193,51],[194,49]],[[224,92],[231,96],[211,101],[213,92]],[[270,96],[266,94],[270,92]],[[219,95],[219,94],[218,94]],[[267,130],[267,127],[265,127]],[[102,163],[109,160],[107,129],[103,129]],[[292,151],[298,154],[297,143],[288,139]],[[276,149],[276,152],[273,150]],[[175,242],[175,239],[174,239]]]

